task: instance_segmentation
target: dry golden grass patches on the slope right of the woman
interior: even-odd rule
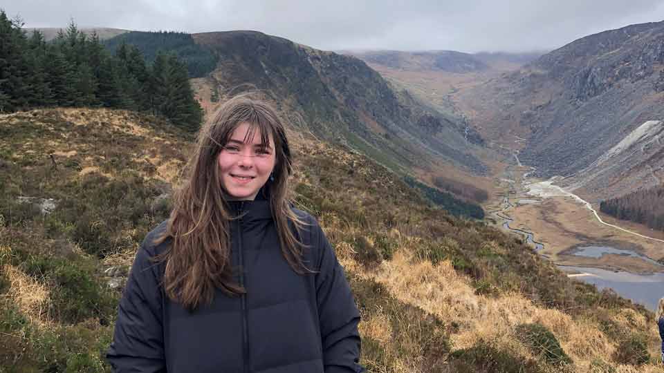
[[[540,323],[550,329],[575,362],[575,372],[589,372],[595,359],[611,361],[616,350],[616,341],[610,341],[594,321],[575,319],[557,309],[537,305],[521,294],[506,294],[497,298],[477,295],[470,278],[458,274],[450,262],[434,266],[428,261],[418,261],[409,254],[407,247],[401,247],[392,260],[382,262],[376,269],[366,269],[347,255],[340,256],[340,260],[359,276],[384,285],[398,300],[421,307],[446,324],[458,325],[457,332],[450,335],[455,350],[472,347],[483,339],[517,356],[533,358],[515,336],[515,327],[523,323]],[[389,336],[386,317],[378,313],[362,321],[362,333],[383,341]],[[631,309],[623,309],[613,321],[629,328],[648,329],[645,317]],[[644,365],[639,368],[619,367],[618,372],[664,370]]]

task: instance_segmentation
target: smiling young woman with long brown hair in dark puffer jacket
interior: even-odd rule
[[[115,372],[364,372],[353,295],[315,219],[288,201],[290,173],[264,102],[230,99],[201,128],[122,294]]]

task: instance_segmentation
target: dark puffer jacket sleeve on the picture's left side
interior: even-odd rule
[[[158,265],[150,260],[151,234],[143,241],[122,292],[107,359],[116,373],[166,372],[162,293]]]

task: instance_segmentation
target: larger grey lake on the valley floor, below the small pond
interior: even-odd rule
[[[576,280],[596,285],[598,289],[610,287],[618,295],[631,299],[635,303],[645,305],[647,309],[655,311],[657,302],[664,297],[664,273],[633,274],[625,271],[609,271],[593,267],[557,266],[565,272],[589,274],[578,276]]]

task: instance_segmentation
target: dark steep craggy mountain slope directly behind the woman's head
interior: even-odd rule
[[[209,106],[215,93],[223,97],[257,89],[286,109],[290,122],[396,171],[431,170],[442,162],[486,172],[472,155],[481,137],[463,120],[395,90],[360,59],[261,32],[193,36],[219,56],[216,70],[195,82]]]

